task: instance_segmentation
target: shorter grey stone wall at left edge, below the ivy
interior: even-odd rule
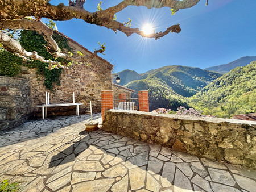
[[[0,76],[0,130],[18,126],[31,116],[30,82]]]

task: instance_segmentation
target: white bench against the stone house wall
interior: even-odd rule
[[[79,116],[79,105],[84,105],[84,103],[75,103],[75,93],[73,92],[73,103],[49,103],[49,93],[46,92],[46,103],[43,105],[38,105],[36,107],[42,107],[42,117],[47,117],[47,107],[65,107],[65,106],[74,106],[76,105],[76,115]]]

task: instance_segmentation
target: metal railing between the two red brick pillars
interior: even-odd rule
[[[113,109],[138,111],[138,98],[113,99]]]

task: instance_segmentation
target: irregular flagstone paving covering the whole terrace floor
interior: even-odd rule
[[[100,114],[93,114],[101,121]],[[256,191],[256,172],[102,130],[89,115],[0,132],[0,180],[22,191]]]

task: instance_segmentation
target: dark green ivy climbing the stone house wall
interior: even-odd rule
[[[53,39],[59,45],[59,48],[65,52],[72,52],[71,47],[68,45],[67,38],[57,34],[55,32],[52,35]],[[61,64],[67,64],[68,61],[63,58],[55,59],[46,49],[47,43],[43,39],[43,36],[35,31],[20,31],[19,36],[20,45],[26,51],[36,51],[38,55],[43,56],[46,60],[56,60]],[[40,61],[31,60],[23,62],[20,57],[13,55],[0,49],[0,75],[1,76],[17,76],[20,72],[20,65],[28,66],[29,68],[36,68],[36,73],[44,76],[44,86],[47,89],[52,90],[53,84],[60,85],[60,77],[62,69],[48,69],[48,64]]]

